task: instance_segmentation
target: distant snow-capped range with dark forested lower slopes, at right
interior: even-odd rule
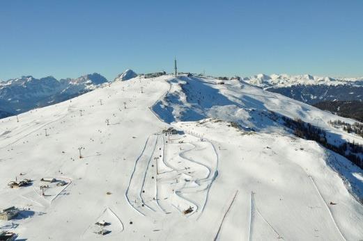
[[[309,74],[258,74],[243,81],[309,104],[320,101],[362,101],[363,78],[330,78]]]

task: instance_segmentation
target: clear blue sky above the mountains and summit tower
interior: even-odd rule
[[[363,76],[363,1],[0,1],[0,79]]]

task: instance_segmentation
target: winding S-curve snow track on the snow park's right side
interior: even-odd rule
[[[217,156],[210,155],[214,151],[213,145],[202,142],[192,135],[184,134],[169,138],[166,147],[164,163],[176,171],[173,174],[178,180],[178,185],[175,185],[173,190],[176,196],[188,201],[190,206],[194,206],[192,215],[200,210],[198,212],[200,217],[206,206],[208,190],[217,172]],[[180,174],[185,178],[178,177]],[[180,185],[181,183],[183,185]]]

